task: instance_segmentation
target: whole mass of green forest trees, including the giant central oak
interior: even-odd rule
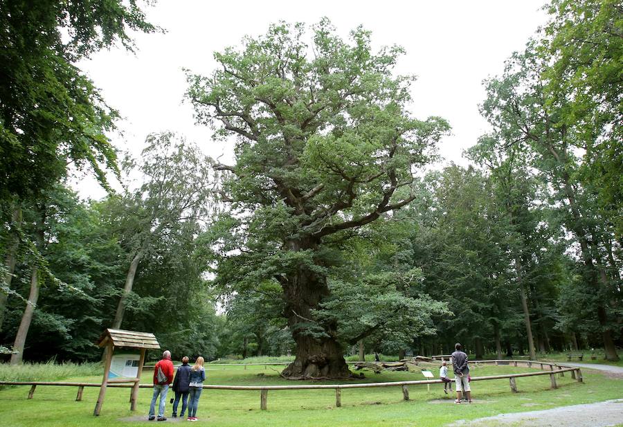
[[[174,358],[303,358],[314,343],[402,357],[460,341],[476,358],[618,360],[620,1],[546,6],[548,25],[483,82],[491,130],[468,167],[436,154],[451,123],[409,115],[401,49],[374,52],[363,28],[343,40],[328,20],[273,25],[216,53],[212,75],[188,71],[197,122],[231,138],[235,164],[183,129],[122,158],[106,137],[116,111],[76,63],[132,50],[128,28],[161,29],[108,3],[0,1],[6,360],[98,360],[107,327],[153,332]],[[109,195],[80,199],[75,171]]]

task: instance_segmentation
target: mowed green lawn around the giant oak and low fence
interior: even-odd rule
[[[436,365],[433,372],[437,375]],[[208,367],[207,383],[230,385],[299,384],[281,379],[279,367]],[[532,372],[527,367],[471,365],[472,376]],[[145,371],[143,383],[151,372]],[[442,385],[410,386],[410,401],[402,399],[400,387],[342,390],[342,407],[336,408],[334,390],[271,390],[268,410],[260,410],[260,392],[204,390],[199,401],[198,425],[231,427],[274,426],[444,426],[458,419],[488,417],[503,412],[521,412],[555,406],[590,403],[621,397],[623,382],[607,374],[583,371],[584,383],[569,373],[557,376],[559,388],[550,390],[548,375],[516,379],[519,392],[512,393],[508,379],[473,381],[474,403],[453,403]],[[424,379],[407,372],[365,372],[366,378],[353,382],[386,382]],[[99,382],[101,376],[78,376],[65,381]],[[325,382],[323,382],[325,383]],[[129,410],[129,389],[109,388],[100,417],[93,417],[98,388],[85,388],[82,401],[76,402],[77,388],[39,386],[33,399],[26,399],[28,386],[0,390],[0,426],[136,426],[148,423],[150,389],[142,388],[138,410]],[[171,413],[170,392],[166,415]],[[170,419],[171,420],[171,419]],[[155,422],[155,421],[152,421]],[[171,421],[165,421],[169,423]],[[183,420],[186,424],[187,421]],[[161,425],[163,423],[160,423]]]

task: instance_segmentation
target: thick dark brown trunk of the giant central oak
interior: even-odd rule
[[[301,251],[315,248],[316,244],[291,241],[288,246],[292,251]],[[336,325],[317,322],[311,313],[329,295],[325,278],[298,266],[296,272],[283,280],[282,287],[288,325],[296,342],[296,358],[282,374],[291,379],[350,377],[343,348],[336,339]]]

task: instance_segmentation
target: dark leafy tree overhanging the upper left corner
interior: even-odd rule
[[[132,50],[129,29],[156,28],[136,0],[1,0],[0,10],[0,214],[10,212],[1,218],[9,235],[0,246],[8,271],[1,319],[19,250],[21,209],[62,179],[70,163],[88,165],[105,187],[106,170],[118,172],[105,136],[117,113],[76,62],[117,41]]]

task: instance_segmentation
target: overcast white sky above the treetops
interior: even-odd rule
[[[284,20],[313,24],[329,17],[338,32],[363,24],[375,46],[399,44],[406,55],[397,71],[418,76],[412,113],[442,116],[453,135],[440,146],[446,163],[465,163],[462,150],[487,131],[478,113],[485,91],[482,80],[501,73],[503,62],[523,48],[547,16],[545,0],[437,1],[200,1],[160,0],[145,9],[147,19],[165,34],[136,35],[136,55],[123,48],[102,51],[82,62],[107,103],[120,111],[123,136],[115,145],[138,156],[145,136],[172,130],[195,141],[212,156],[231,157],[231,146],[214,143],[210,129],[195,125],[192,107],[183,103],[182,68],[208,74],[213,52],[239,46],[244,35],[260,35]],[[92,179],[76,184],[82,197],[105,192]]]

